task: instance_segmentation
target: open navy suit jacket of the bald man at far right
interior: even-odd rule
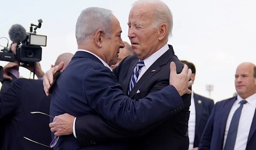
[[[217,102],[215,104],[204,129],[204,133],[198,147],[199,150],[223,150],[227,117],[236,99],[237,96]],[[254,113],[253,116],[253,122],[250,128],[246,150],[256,150],[255,130],[256,113]]]

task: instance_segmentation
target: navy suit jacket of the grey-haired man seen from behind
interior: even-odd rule
[[[134,94],[134,91],[131,94]],[[78,51],[55,82],[50,115],[69,113],[79,117],[99,114],[116,126],[136,131],[166,118],[177,109],[183,109],[183,100],[172,85],[143,99],[132,100],[122,91],[122,86],[113,72],[98,58],[87,52]],[[76,126],[83,126],[90,120],[79,122],[77,118],[77,121]],[[98,130],[104,131],[104,128]],[[76,131],[77,137],[79,134],[80,132]],[[128,148],[127,142],[127,139],[118,139],[97,144],[97,141],[91,140],[84,142],[86,146],[79,147],[77,139],[72,134],[61,136],[54,149],[125,150]]]

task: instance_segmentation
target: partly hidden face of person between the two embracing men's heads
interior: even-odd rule
[[[119,49],[117,62],[116,62],[115,65],[111,65],[112,69],[115,68],[116,66],[118,66],[119,62],[121,62],[122,59],[124,59],[125,57],[128,57],[128,56],[133,54],[131,45],[128,42],[125,42],[125,41],[124,41],[124,43],[125,43],[125,47]]]

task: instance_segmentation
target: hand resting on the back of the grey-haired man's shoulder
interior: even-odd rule
[[[49,96],[49,89],[51,88],[51,85],[54,83],[63,66],[64,62],[61,62],[59,65],[56,65],[44,74],[43,85],[46,96]]]

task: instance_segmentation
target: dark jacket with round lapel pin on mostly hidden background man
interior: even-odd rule
[[[198,147],[201,137],[204,132],[204,128],[212,113],[214,102],[212,99],[208,99],[204,96],[194,93],[195,101],[195,139],[194,147]]]

